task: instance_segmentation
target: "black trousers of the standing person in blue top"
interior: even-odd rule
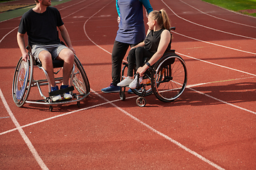
[[[137,45],[137,44],[134,44]],[[114,46],[112,50],[112,84],[117,86],[121,79],[121,67],[122,60],[128,50],[128,47],[133,47],[134,45],[114,41]]]

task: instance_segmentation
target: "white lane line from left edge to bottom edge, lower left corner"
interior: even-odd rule
[[[33,147],[31,141],[28,139],[28,136],[26,135],[26,133],[21,128],[21,125],[19,125],[18,121],[16,120],[14,114],[11,112],[11,108],[9,108],[9,105],[6,102],[6,99],[4,98],[4,94],[2,93],[1,89],[0,89],[0,96],[1,96],[1,101],[3,101],[4,103],[4,107],[6,108],[6,111],[10,115],[10,118],[13,121],[14,125],[16,126],[18,132],[21,134],[22,139],[25,141],[26,145],[28,146],[28,149],[31,151],[31,153],[33,154],[33,157],[36,159],[36,162],[38,162],[39,166],[41,166],[41,169],[47,170],[48,167],[39,156],[35,147]]]

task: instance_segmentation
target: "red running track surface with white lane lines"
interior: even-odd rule
[[[173,103],[147,96],[144,108],[134,95],[100,91],[111,81],[114,1],[56,6],[92,88],[80,110],[15,106],[20,17],[0,23],[0,169],[255,169],[256,18],[200,0],[151,5],[176,27],[172,48],[186,61],[188,86]]]

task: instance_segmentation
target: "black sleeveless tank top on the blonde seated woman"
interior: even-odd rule
[[[149,52],[155,53],[157,51],[157,48],[159,46],[161,33],[164,29],[157,30],[154,32],[154,30],[151,30],[148,35],[146,35],[146,38],[144,40],[145,42],[145,49]],[[169,42],[169,45],[166,50],[171,50],[171,41]]]

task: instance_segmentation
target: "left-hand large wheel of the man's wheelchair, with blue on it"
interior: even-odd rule
[[[12,84],[12,96],[16,106],[21,107],[28,98],[33,79],[33,59],[29,55],[29,60],[24,62],[21,59],[18,61],[14,72],[14,81]]]

